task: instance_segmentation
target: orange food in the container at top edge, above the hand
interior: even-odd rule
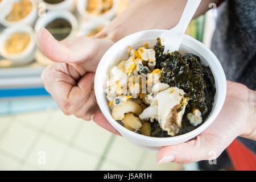
[[[113,0],[88,0],[86,11],[92,15],[101,15],[108,12],[113,6]]]

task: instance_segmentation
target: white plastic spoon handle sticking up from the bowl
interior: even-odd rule
[[[197,7],[200,5],[200,2],[201,0],[188,0],[183,14],[181,15],[180,21],[175,27],[180,33],[185,33],[189,22],[193,18],[193,15],[196,13]]]

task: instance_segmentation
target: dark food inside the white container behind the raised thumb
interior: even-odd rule
[[[56,18],[46,25],[46,29],[52,34],[56,40],[67,38],[72,30],[71,23],[63,18]]]

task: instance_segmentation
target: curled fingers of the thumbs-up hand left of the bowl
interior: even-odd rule
[[[90,98],[94,73],[86,73],[76,83],[76,80],[66,73],[52,72],[52,69],[57,70],[56,65],[59,66],[59,64],[52,64],[42,73],[42,80],[46,90],[64,114],[74,114],[85,104],[88,104],[88,108],[96,104],[96,102],[93,103],[93,98]]]

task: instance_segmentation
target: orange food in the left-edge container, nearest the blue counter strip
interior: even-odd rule
[[[24,51],[30,44],[30,35],[24,32],[16,32],[5,42],[5,51],[10,54],[17,54]]]

